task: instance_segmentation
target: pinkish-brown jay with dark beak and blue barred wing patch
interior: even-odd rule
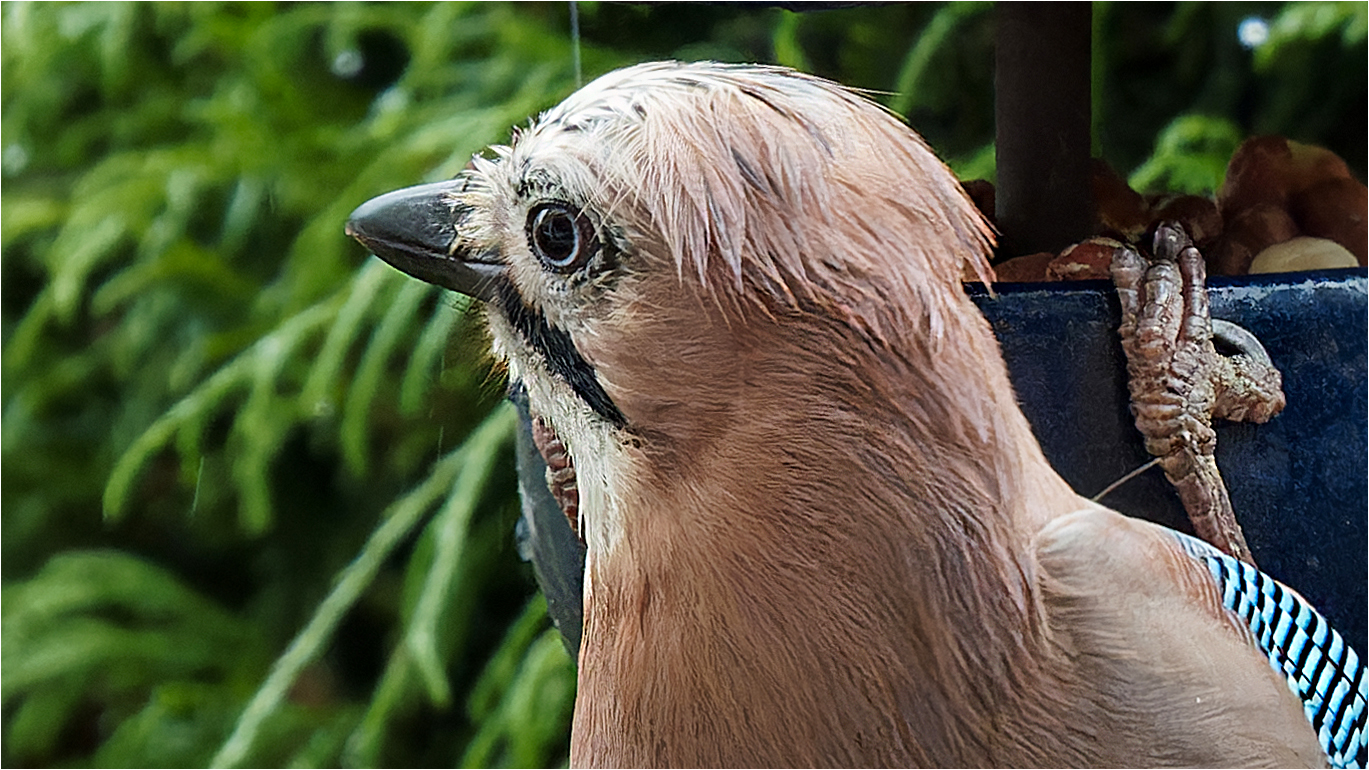
[[[1314,608],[1050,467],[961,282],[991,229],[864,95],[637,64],[346,232],[483,300],[553,449],[572,765],[1365,762]]]

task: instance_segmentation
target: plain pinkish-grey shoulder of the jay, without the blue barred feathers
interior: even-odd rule
[[[1102,507],[1043,526],[1054,654],[1121,763],[1324,766],[1303,706],[1181,534]]]

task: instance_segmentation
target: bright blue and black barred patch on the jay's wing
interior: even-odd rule
[[[1302,699],[1332,767],[1365,767],[1365,667],[1359,656],[1295,591],[1212,545],[1175,533],[1184,551],[1207,564],[1221,603],[1240,617],[1269,665]]]

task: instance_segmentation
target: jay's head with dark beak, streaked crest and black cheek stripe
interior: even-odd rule
[[[632,481],[697,466],[741,404],[793,408],[765,388],[821,392],[802,362],[856,349],[917,369],[965,318],[964,267],[988,275],[987,225],[920,137],[763,66],[609,73],[348,233],[486,301],[496,355],[574,460],[591,554]]]

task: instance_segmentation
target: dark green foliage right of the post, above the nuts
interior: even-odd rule
[[[1124,177],[1210,190],[1233,130],[1328,147],[1364,178],[1362,4],[1098,3],[1094,16],[1098,151]],[[1238,37],[1246,21],[1268,23],[1254,49]]]

